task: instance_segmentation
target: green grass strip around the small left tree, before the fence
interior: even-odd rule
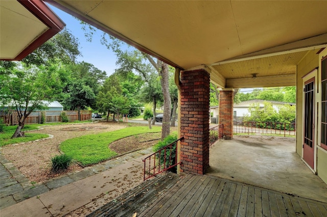
[[[39,126],[45,126],[45,125],[58,125],[58,124],[71,124],[71,123],[87,123],[90,121],[74,121],[74,122],[68,122],[68,123],[46,123],[46,124],[26,124],[24,126],[24,129],[22,131],[27,130],[34,130],[39,129]],[[11,139],[12,135],[14,134],[17,126],[4,126],[4,132],[0,133],[0,147],[9,145],[9,144],[15,144],[15,143],[25,143],[30,142],[34,140],[39,140],[43,138],[48,138],[48,134],[42,134],[42,133],[25,133],[25,137],[19,137],[15,139]]]

